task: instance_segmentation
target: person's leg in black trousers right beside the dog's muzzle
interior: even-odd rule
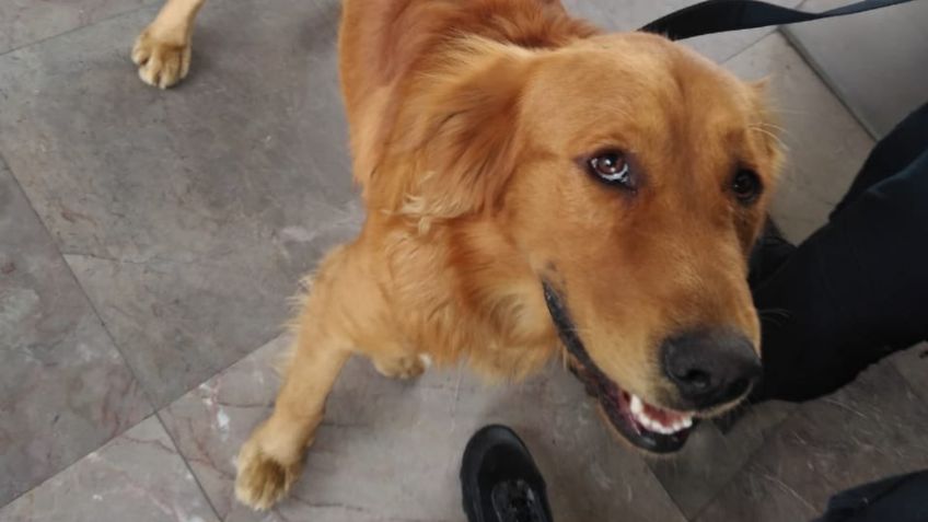
[[[755,281],[764,380],[754,401],[831,393],[928,338],[928,109],[898,129],[903,144],[888,137],[874,150],[828,224]],[[921,141],[925,151],[905,166]],[[902,170],[888,175],[894,161]],[[863,187],[865,178],[875,184]]]

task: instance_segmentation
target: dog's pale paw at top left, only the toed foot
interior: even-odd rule
[[[190,53],[188,36],[165,35],[149,26],[132,46],[132,61],[139,66],[139,78],[143,82],[167,89],[189,72]]]

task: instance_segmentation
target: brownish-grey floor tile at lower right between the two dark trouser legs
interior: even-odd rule
[[[928,468],[928,405],[892,361],[803,404],[700,521],[809,520],[859,484]]]

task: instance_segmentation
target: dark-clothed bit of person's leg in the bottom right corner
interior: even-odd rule
[[[925,522],[928,471],[884,478],[842,491],[816,522]]]

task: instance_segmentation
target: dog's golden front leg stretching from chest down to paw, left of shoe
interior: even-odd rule
[[[336,251],[321,265],[297,324],[295,347],[274,413],[239,452],[235,496],[253,509],[270,508],[299,477],[325,399],[351,356],[351,340],[332,313],[344,306],[339,281],[355,277],[346,274],[350,270],[343,254]]]

